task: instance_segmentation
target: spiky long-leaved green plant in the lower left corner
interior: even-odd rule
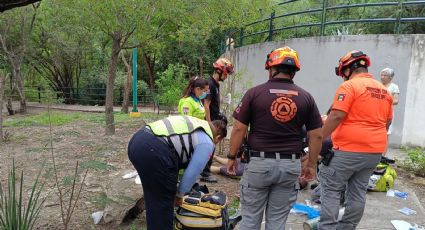
[[[31,195],[25,202],[24,174],[22,171],[20,178],[16,178],[15,162],[13,161],[7,188],[0,183],[0,229],[27,230],[34,227],[45,201],[45,198],[40,197],[43,190],[43,184],[40,184],[39,181],[41,171],[32,185]],[[16,183],[17,181],[18,183]]]

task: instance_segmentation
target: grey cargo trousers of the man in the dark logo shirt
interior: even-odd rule
[[[240,230],[261,228],[264,216],[266,230],[285,229],[286,219],[297,200],[299,159],[252,157],[240,182]]]

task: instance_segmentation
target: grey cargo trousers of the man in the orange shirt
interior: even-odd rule
[[[329,166],[320,165],[322,208],[318,229],[356,229],[363,216],[369,177],[381,160],[381,154],[334,151]],[[340,196],[346,188],[345,213],[338,222]]]

